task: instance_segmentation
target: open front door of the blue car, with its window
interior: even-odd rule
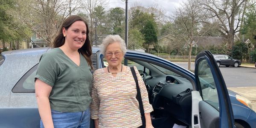
[[[192,91],[192,128],[235,128],[227,87],[211,52],[195,59],[196,90]]]

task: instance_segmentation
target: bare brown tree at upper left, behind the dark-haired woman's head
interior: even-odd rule
[[[16,2],[16,10],[9,12],[17,19],[15,23],[25,23],[49,46],[62,21],[79,5],[79,1],[73,0],[73,9],[70,12],[70,3],[67,0],[17,0]]]

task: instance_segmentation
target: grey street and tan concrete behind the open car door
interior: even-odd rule
[[[188,69],[188,62],[175,62]],[[195,69],[195,63],[191,63],[191,70]],[[249,99],[256,111],[256,68],[246,67],[219,67],[226,86],[245,98]]]

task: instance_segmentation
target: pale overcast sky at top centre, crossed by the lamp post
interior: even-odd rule
[[[171,14],[175,10],[175,7],[178,7],[182,1],[183,0],[128,0],[128,8],[130,8],[131,4],[134,2],[139,2],[142,6],[145,7],[157,3],[158,6],[166,10],[167,14]],[[108,5],[110,8],[122,7],[125,9],[125,2],[122,2],[122,0],[109,0]]]

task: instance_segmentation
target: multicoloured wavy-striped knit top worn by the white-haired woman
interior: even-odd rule
[[[145,84],[137,74],[144,112],[153,111],[148,102]],[[93,73],[92,103],[90,105],[91,118],[99,119],[99,128],[137,128],[142,125],[139,102],[136,99],[136,83],[131,70],[116,74],[106,73],[98,69]]]

